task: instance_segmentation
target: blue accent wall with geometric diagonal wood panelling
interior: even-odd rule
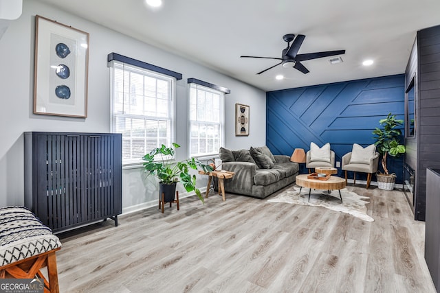
[[[404,119],[404,88],[405,75],[399,74],[267,92],[266,144],[274,154],[290,156],[295,148],[307,152],[312,141],[319,146],[329,142],[336,161],[341,161],[353,143],[374,143],[371,132],[388,113]],[[403,156],[387,163],[401,183]],[[380,164],[379,169],[383,171]],[[301,171],[305,173],[305,164]],[[366,180],[364,174],[356,177]]]

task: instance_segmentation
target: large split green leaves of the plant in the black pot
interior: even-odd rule
[[[162,145],[160,148],[151,150],[150,153],[144,155],[142,158],[145,161],[143,164],[144,170],[148,175],[157,176],[163,184],[173,184],[178,181],[181,182],[186,191],[195,191],[195,194],[197,194],[201,202],[204,204],[205,201],[203,200],[203,196],[201,196],[200,190],[197,189],[195,185],[196,176],[191,176],[190,169],[201,167],[204,172],[211,172],[212,167],[204,165],[195,158],[179,162],[171,161],[177,148],[180,148],[180,145],[173,143],[173,146],[170,148]],[[159,160],[155,161],[157,158],[159,158]]]

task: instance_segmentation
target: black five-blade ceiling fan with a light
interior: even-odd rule
[[[241,58],[262,58],[262,59],[275,59],[275,60],[281,60],[278,64],[269,67],[263,71],[260,71],[256,74],[261,74],[269,69],[272,69],[278,65],[283,65],[283,67],[294,67],[294,69],[298,69],[302,73],[309,73],[310,71],[301,64],[301,61],[305,60],[311,60],[316,58],[322,58],[322,57],[328,57],[328,56],[335,56],[335,55],[342,55],[345,54],[345,50],[336,50],[336,51],[323,51],[323,52],[315,52],[315,53],[308,53],[308,54],[298,54],[298,51],[301,47],[301,44],[303,44],[303,40],[305,38],[305,35],[298,34],[296,36],[294,34],[285,34],[283,36],[283,40],[287,42],[287,48],[283,49],[283,54],[281,54],[281,58],[273,58],[273,57],[260,57],[260,56],[240,56]],[[293,43],[290,45],[290,42]]]

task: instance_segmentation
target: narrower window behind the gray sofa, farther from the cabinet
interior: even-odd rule
[[[219,153],[224,137],[223,99],[222,91],[190,83],[190,156]]]

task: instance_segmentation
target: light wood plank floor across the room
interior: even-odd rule
[[[435,292],[404,194],[348,189],[375,222],[227,194],[60,234],[61,292]]]

